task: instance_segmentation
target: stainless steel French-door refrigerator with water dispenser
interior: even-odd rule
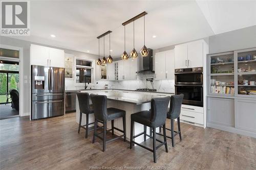
[[[31,119],[65,112],[65,68],[31,66]]]

